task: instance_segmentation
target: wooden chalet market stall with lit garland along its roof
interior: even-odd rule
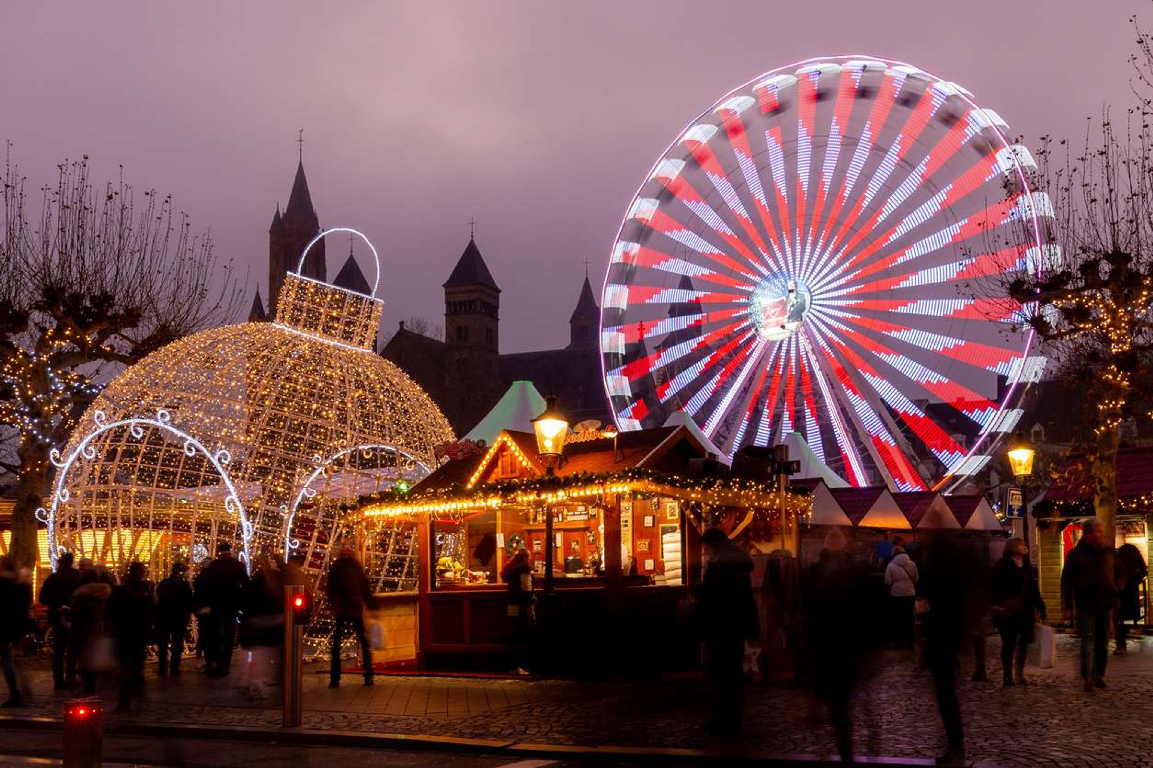
[[[807,499],[768,481],[706,477],[707,458],[686,426],[616,439],[587,432],[570,438],[549,477],[535,436],[505,429],[483,454],[451,459],[404,493],[362,500],[355,519],[369,537],[398,519],[416,526],[413,646],[421,667],[506,663],[507,587],[499,575],[527,548],[543,577],[551,511],[556,594],[548,601],[538,593],[535,667],[656,672],[699,662],[675,619],[686,584],[700,575],[700,532],[722,518],[739,530],[773,515],[796,530],[807,509]]]

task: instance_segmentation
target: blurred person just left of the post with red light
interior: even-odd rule
[[[261,555],[244,593],[241,645],[244,669],[239,685],[248,700],[263,699],[272,682],[277,649],[284,645],[284,583],[280,569],[269,555]]]

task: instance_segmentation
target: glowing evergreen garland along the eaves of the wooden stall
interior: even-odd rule
[[[627,467],[616,472],[591,474],[578,472],[562,477],[537,476],[514,478],[467,488],[455,484],[421,491],[389,488],[357,500],[363,517],[415,512],[459,512],[469,509],[496,508],[507,502],[556,503],[568,499],[627,494],[632,499],[670,495],[688,501],[718,505],[779,507],[782,501],[792,510],[805,511],[808,497],[790,491],[785,499],[774,485],[745,478],[686,478],[645,467]]]

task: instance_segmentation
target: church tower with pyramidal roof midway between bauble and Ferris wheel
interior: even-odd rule
[[[444,283],[445,391],[453,425],[467,432],[503,394],[500,387],[500,289],[468,238]]]

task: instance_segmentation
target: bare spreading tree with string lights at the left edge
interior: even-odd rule
[[[0,230],[0,425],[14,450],[10,553],[37,560],[35,511],[61,446],[99,382],[164,344],[231,319],[241,286],[218,265],[209,233],[191,234],[172,198],[144,192],[137,211],[121,177],[93,189],[88,157],[58,166],[31,215],[25,178],[5,153]]]

